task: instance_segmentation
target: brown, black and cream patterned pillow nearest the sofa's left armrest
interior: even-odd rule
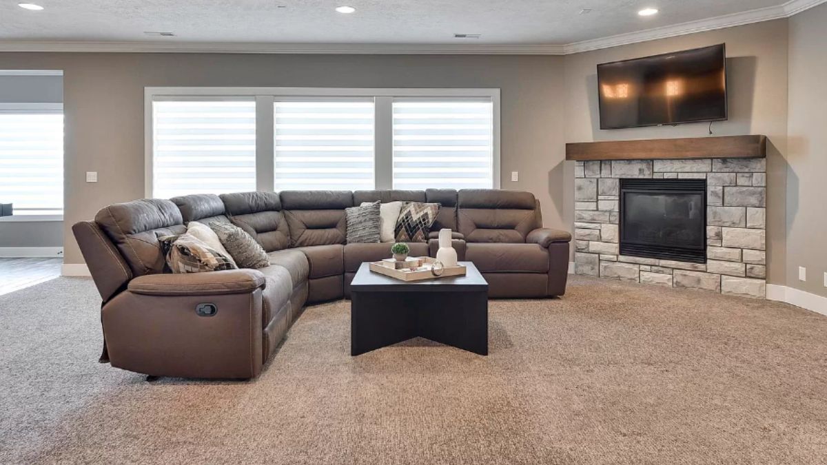
[[[187,232],[179,236],[159,237],[158,240],[166,252],[166,265],[173,273],[202,273],[237,268],[229,256]]]

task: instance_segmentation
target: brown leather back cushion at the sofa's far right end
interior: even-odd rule
[[[466,242],[525,242],[543,220],[530,192],[463,189],[457,195],[457,225]]]

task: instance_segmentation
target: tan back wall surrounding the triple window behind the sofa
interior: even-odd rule
[[[0,54],[4,69],[64,70],[65,262],[71,225],[144,196],[144,88],[151,86],[500,88],[503,189],[563,210],[562,57],[427,55]],[[98,171],[86,184],[85,171]],[[511,182],[511,171],[519,182]]]

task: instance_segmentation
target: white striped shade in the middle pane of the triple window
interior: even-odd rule
[[[374,103],[274,103],[275,190],[373,189]]]

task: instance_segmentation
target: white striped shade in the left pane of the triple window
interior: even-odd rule
[[[256,190],[256,102],[155,101],[152,195]]]

